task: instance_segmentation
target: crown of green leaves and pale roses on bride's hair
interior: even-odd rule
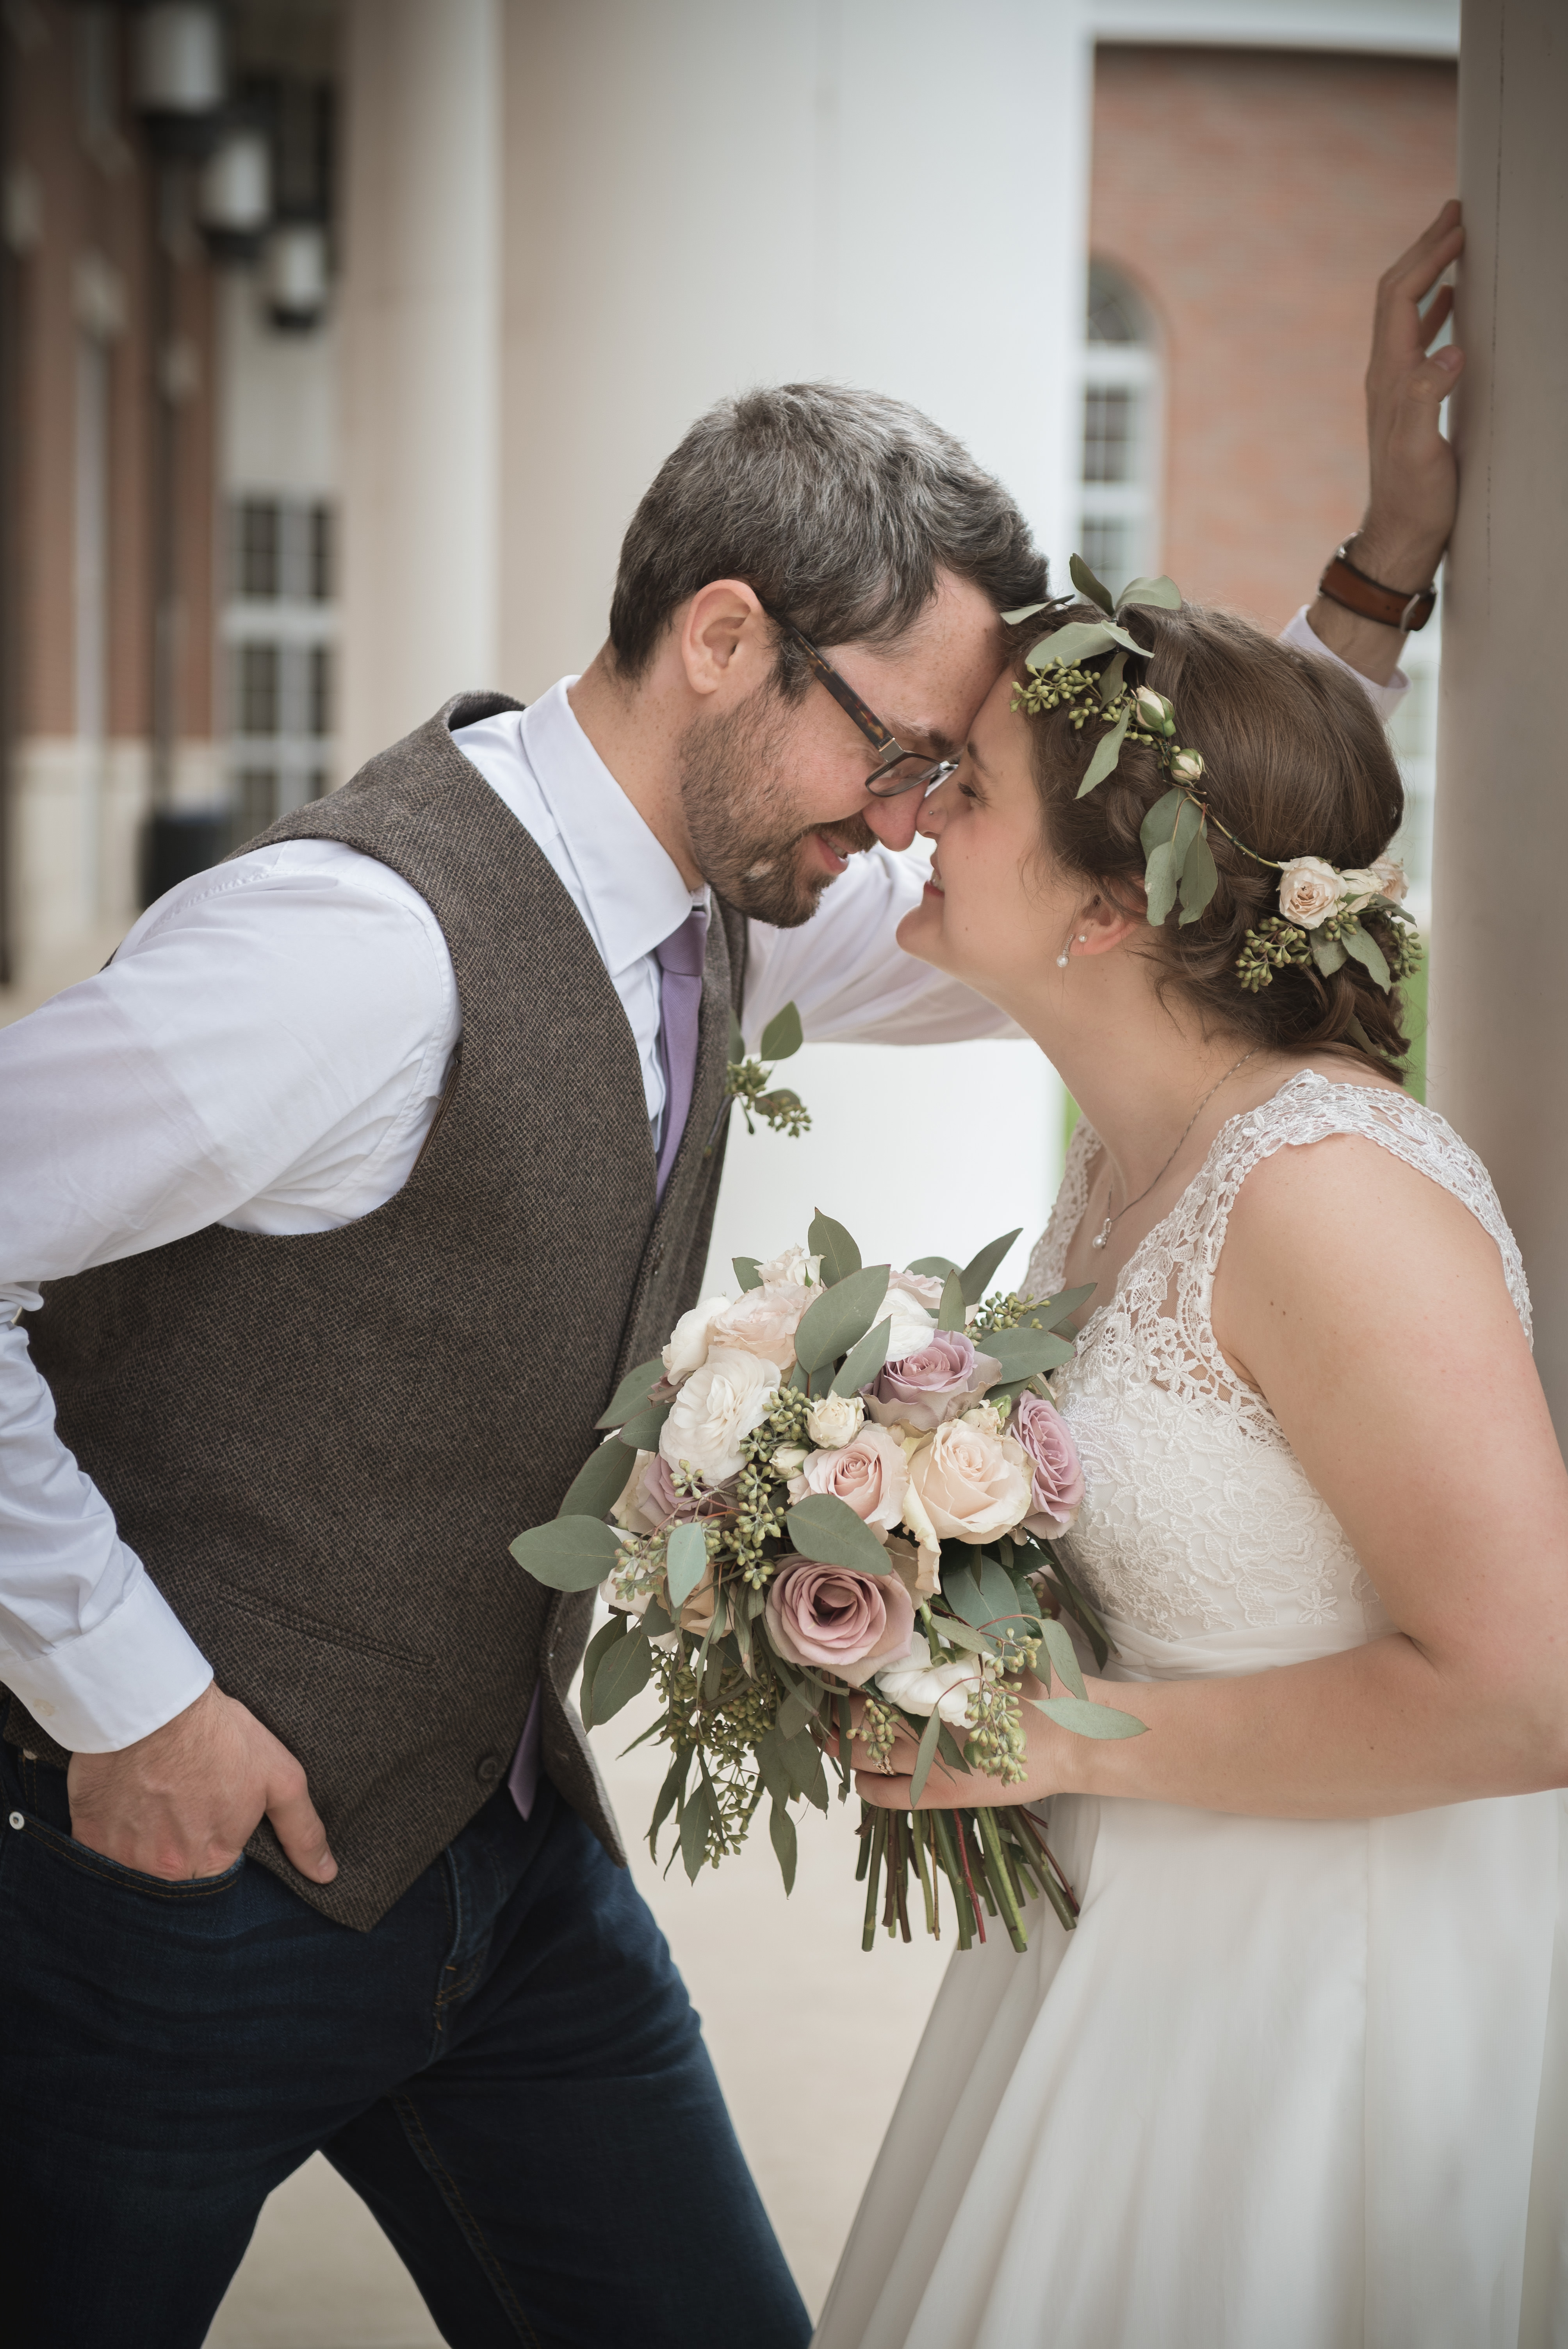
[[[1150,660],[1150,653],[1129,634],[1122,615],[1136,606],[1181,611],[1176,580],[1131,580],[1113,599],[1080,554],[1068,568],[1077,592],[1103,613],[1103,620],[1070,620],[1049,637],[1040,637],[1023,655],[1033,674],[1014,686],[1012,707],[1030,716],[1068,707],[1077,731],[1089,723],[1108,728],[1077,785],[1080,799],[1115,773],[1124,742],[1143,742],[1155,752],[1171,778],[1171,789],[1148,810],[1138,834],[1150,923],[1160,928],[1181,907],[1178,926],[1185,928],[1214,897],[1221,881],[1209,848],[1209,824],[1214,824],[1244,857],[1279,874],[1279,911],[1246,933],[1237,956],[1237,977],[1249,994],[1270,987],[1275,972],[1286,963],[1317,968],[1331,977],[1347,958],[1354,958],[1385,994],[1408,977],[1420,965],[1420,937],[1401,904],[1406,879],[1399,860],[1376,857],[1368,867],[1340,871],[1326,857],[1284,857],[1282,862],[1249,848],[1218,820],[1197,789],[1204,761],[1199,752],[1176,742],[1171,702],[1153,686],[1129,684],[1127,662]],[[1002,620],[1009,625],[1033,620],[1038,611],[1052,611],[1052,606],[1023,604],[1019,611],[1005,611]],[[1084,667],[1087,660],[1101,660],[1106,653],[1110,658],[1103,667]],[[1361,921],[1366,911],[1376,911],[1383,937],[1376,937]]]

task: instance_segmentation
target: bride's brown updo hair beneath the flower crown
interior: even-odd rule
[[[1023,622],[1012,632],[1016,674],[1030,674],[1023,653],[1040,641],[1042,625],[1103,618],[1089,604],[1066,604]],[[1279,862],[1312,855],[1347,871],[1385,853],[1404,817],[1404,785],[1366,693],[1345,669],[1195,604],[1136,606],[1122,613],[1122,625],[1153,651],[1148,665],[1134,665],[1136,681],[1176,705],[1178,742],[1202,752],[1202,796],[1218,824]],[[1169,792],[1169,775],[1148,745],[1127,742],[1115,773],[1080,799],[1103,728],[1094,721],[1075,728],[1070,707],[1030,714],[1026,723],[1052,855],[1120,911],[1143,914],[1138,827]],[[1279,874],[1232,848],[1218,824],[1209,824],[1221,876],[1209,907],[1185,928],[1174,911],[1162,928],[1143,923],[1138,935],[1141,951],[1162,965],[1160,994],[1181,994],[1204,1029],[1277,1052],[1331,1048],[1380,1076],[1399,1076],[1408,1052],[1399,994],[1385,996],[1361,963],[1345,961],[1331,977],[1286,965],[1258,994],[1239,984],[1246,933],[1279,911]]]

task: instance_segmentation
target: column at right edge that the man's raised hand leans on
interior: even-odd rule
[[[1432,1099],[1488,1163],[1568,1433],[1568,14],[1465,0],[1460,517],[1444,590]]]

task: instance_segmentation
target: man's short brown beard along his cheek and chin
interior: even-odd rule
[[[800,871],[800,843],[819,832],[838,855],[876,848],[861,815],[800,824],[789,808],[786,705],[763,688],[723,719],[697,721],[681,740],[681,808],[697,871],[739,914],[796,930],[817,911],[831,874]]]

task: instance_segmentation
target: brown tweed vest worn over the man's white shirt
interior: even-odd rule
[[[535,1677],[545,1769],[624,1863],[566,1691],[592,1593],[507,1555],[552,1517],[615,1381],[695,1301],[744,921],[709,926],[697,1081],[662,1205],[636,1048],[582,916],[451,740],[458,695],[261,843],[331,839],[434,909],[462,1045],[420,1160],[300,1238],[209,1226],[54,1280],[31,1320],[59,1428],[120,1532],[310,1773],[338,1879],[251,1858],[369,1929],[495,1792]],[[251,846],[261,846],[251,843]],[[7,1736],[63,1755],[12,1698]]]

